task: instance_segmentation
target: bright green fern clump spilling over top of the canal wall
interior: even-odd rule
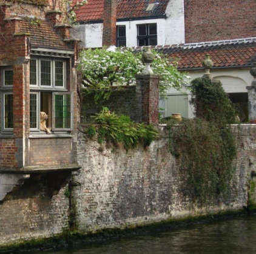
[[[114,112],[104,114],[104,111],[101,111],[94,118],[95,122],[100,124],[98,128],[99,143],[106,140],[116,146],[123,145],[128,151],[135,148],[138,143],[149,146],[153,139],[158,137],[158,131],[152,125],[132,122],[130,117],[118,116]]]

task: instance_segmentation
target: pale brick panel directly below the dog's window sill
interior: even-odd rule
[[[28,166],[61,165],[72,163],[71,138],[30,139]]]

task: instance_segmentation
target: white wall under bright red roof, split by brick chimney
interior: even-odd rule
[[[166,19],[143,19],[116,22],[126,25],[127,47],[137,46],[137,25],[157,23],[158,45],[184,43],[184,0],[170,0],[166,8]],[[83,48],[101,48],[103,23],[76,25],[72,36],[81,39]]]

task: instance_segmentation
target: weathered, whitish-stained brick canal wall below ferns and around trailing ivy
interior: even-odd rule
[[[256,154],[255,134],[255,127],[241,126],[231,195],[227,204],[208,207],[208,211],[247,206],[248,177],[254,170],[249,161]],[[80,230],[122,228],[206,212],[192,209],[191,200],[183,196],[186,171],[170,154],[167,135],[147,149],[126,152],[79,134],[78,162],[82,169],[76,180],[82,185],[75,194]]]

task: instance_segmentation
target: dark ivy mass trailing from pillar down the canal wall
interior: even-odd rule
[[[195,79],[191,91],[198,117],[179,125],[170,121],[170,152],[188,172],[184,194],[198,204],[211,204],[225,198],[231,184],[237,150],[230,124],[237,111],[220,82]]]

